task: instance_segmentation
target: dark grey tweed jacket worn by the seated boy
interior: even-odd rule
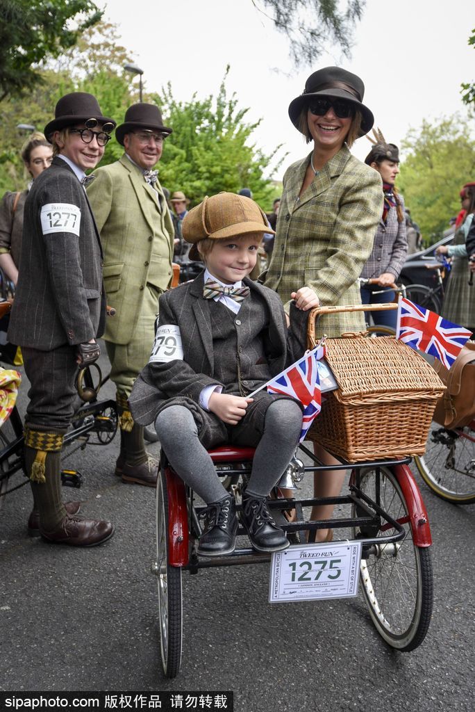
[[[221,362],[215,365],[210,300],[203,298],[203,274],[193,282],[161,295],[159,325],[179,326],[183,342],[183,360],[148,364],[142,370],[129,397],[134,420],[141,425],[152,422],[171,398],[174,403],[179,402],[176,401],[178,398],[193,409],[193,404],[196,406],[199,403],[203,388],[210,384],[221,383],[224,386],[223,392],[235,392],[235,384],[223,383],[215,377],[215,372],[235,372],[236,344],[234,341],[230,342],[228,350],[224,350],[225,355],[222,356],[223,359],[230,360],[230,367],[226,369]],[[257,300],[262,305],[262,311],[268,313],[267,326],[256,336],[263,345],[264,363],[268,369],[265,372],[272,377],[304,355],[308,312],[303,312],[292,304],[291,327],[287,330],[282,302],[277,294],[249,278],[245,278],[243,283],[251,290],[246,299]],[[240,340],[249,342],[249,337],[255,332],[255,325],[252,328],[245,319],[239,318],[241,310],[233,320],[239,329]],[[255,365],[260,363],[261,360]],[[249,365],[249,370],[252,369],[252,365]],[[246,372],[242,372],[242,384],[248,393],[264,382],[265,379],[252,379]]]

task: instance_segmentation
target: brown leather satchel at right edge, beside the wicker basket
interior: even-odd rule
[[[434,369],[447,386],[437,401],[434,421],[447,429],[463,428],[475,418],[475,342],[466,342],[450,370],[438,359]]]

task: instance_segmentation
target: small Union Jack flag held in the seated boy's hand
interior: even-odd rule
[[[325,347],[316,346],[266,384],[268,393],[292,396],[303,405],[304,414],[299,442],[305,439],[314,418],[321,411],[319,369],[316,362],[324,356]]]

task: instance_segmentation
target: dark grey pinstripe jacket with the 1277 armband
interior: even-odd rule
[[[79,237],[72,232],[43,235],[40,211],[49,203],[80,208]],[[26,199],[9,341],[50,351],[102,335],[102,291],[102,249],[90,204],[73,170],[56,157]]]

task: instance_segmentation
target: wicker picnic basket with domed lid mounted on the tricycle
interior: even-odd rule
[[[334,311],[379,310],[375,307],[320,307]],[[309,347],[315,322],[309,318]],[[420,455],[444,384],[434,369],[395,337],[348,334],[326,339],[326,361],[338,389],[324,394],[321,413],[307,438],[349,462]]]

